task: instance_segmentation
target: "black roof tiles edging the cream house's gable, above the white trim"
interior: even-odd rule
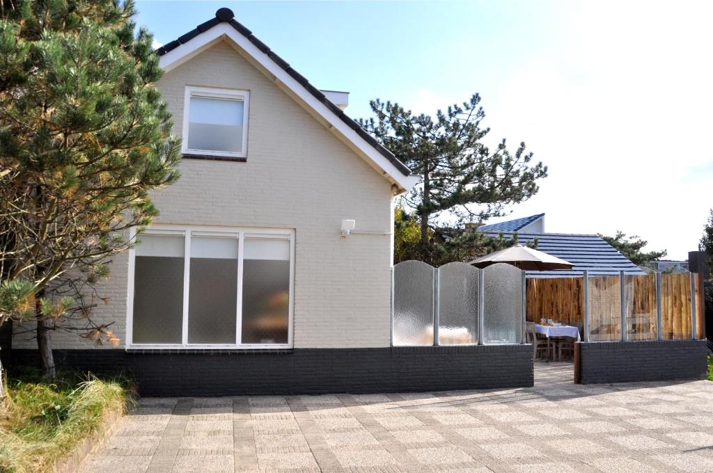
[[[230,26],[235,28],[235,31],[242,34],[242,36],[245,36],[245,38],[247,38],[248,41],[254,44],[255,47],[260,49],[260,51],[262,51],[263,53],[267,54],[267,56],[269,56],[272,61],[275,61],[277,66],[282,68],[294,80],[297,80],[297,82],[302,85],[302,87],[307,89],[307,91],[312,94],[314,98],[323,103],[327,108],[329,108],[332,113],[334,113],[334,115],[337,115],[337,117],[339,117],[342,122],[347,124],[349,128],[352,128],[352,130],[354,130],[360,137],[364,138],[364,140],[366,140],[366,142],[368,142],[371,147],[374,147],[376,151],[378,151],[382,156],[386,157],[386,159],[389,160],[389,162],[391,162],[391,164],[393,164],[399,170],[399,172],[401,172],[401,174],[403,174],[404,176],[411,175],[411,170],[409,169],[409,167],[404,165],[403,162],[396,159],[396,156],[394,156],[391,151],[387,150],[385,147],[379,144],[379,142],[376,141],[373,136],[369,135],[369,133],[367,133],[364,128],[361,128],[359,126],[359,123],[356,123],[356,121],[354,121],[352,118],[349,118],[347,115],[345,115],[342,109],[337,107],[337,105],[334,105],[334,103],[332,103],[332,101],[329,100],[324,95],[324,93],[320,92],[318,88],[314,87],[314,85],[309,83],[309,80],[307,80],[300,73],[295,71],[292,66],[289,66],[289,63],[287,63],[287,61],[284,61],[284,59],[277,56],[277,54],[270,48],[268,48],[265,43],[257,39],[255,35],[252,34],[252,31],[245,28],[245,26],[242,26],[242,24],[238,23],[235,20],[235,15],[230,9],[219,9],[215,12],[215,18],[212,18],[206,21],[205,23],[196,26],[195,29],[188,31],[188,33],[185,33],[183,36],[179,36],[178,39],[175,39],[170,43],[166,43],[165,45],[158,48],[156,52],[159,56],[163,56],[165,53],[173,51],[173,49],[178,48],[178,46],[192,40],[200,33],[204,33],[213,26],[217,26],[221,23],[230,24]]]

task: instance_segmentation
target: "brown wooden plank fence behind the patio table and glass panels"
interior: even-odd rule
[[[656,276],[625,276],[626,331],[629,340],[657,338]],[[694,274],[697,338],[704,338],[702,281]],[[590,276],[590,341],[621,340],[619,276]],[[691,280],[688,273],[661,275],[662,338],[691,338]],[[584,324],[582,278],[543,278],[527,281],[527,320],[552,318],[570,325]]]

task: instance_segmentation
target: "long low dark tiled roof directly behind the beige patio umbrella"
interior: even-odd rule
[[[508,232],[486,233],[493,237],[497,236],[498,233],[502,233],[504,237],[513,237],[513,234]],[[619,274],[619,271],[625,271],[625,274],[632,276],[646,274],[597,235],[518,233],[518,241],[521,244],[528,243],[534,239],[538,240],[538,250],[569,261],[575,267],[571,270],[560,271],[528,271],[528,277],[581,277],[582,271],[585,269],[589,271],[590,276],[614,276]]]

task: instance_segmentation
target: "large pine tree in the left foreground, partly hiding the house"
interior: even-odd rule
[[[0,0],[0,323],[116,341],[94,323],[94,284],[148,192],[178,179],[180,140],[155,82],[152,36],[132,1]]]

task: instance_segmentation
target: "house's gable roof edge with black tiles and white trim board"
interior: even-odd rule
[[[232,40],[233,45],[239,46],[242,51],[255,59],[270,75],[274,76],[272,80],[278,86],[283,86],[297,95],[297,98],[301,99],[298,100],[300,105],[326,120],[329,130],[337,132],[353,145],[362,157],[366,157],[381,170],[384,177],[397,184],[400,192],[411,189],[419,182],[419,177],[411,175],[409,167],[379,144],[373,136],[359,126],[359,123],[344,114],[344,111],[334,105],[322,91],[257,39],[252,31],[236,21],[230,9],[219,9],[215,12],[215,18],[205,21],[195,29],[158,48],[156,53],[161,56],[160,66],[164,71],[170,71],[224,39]]]

